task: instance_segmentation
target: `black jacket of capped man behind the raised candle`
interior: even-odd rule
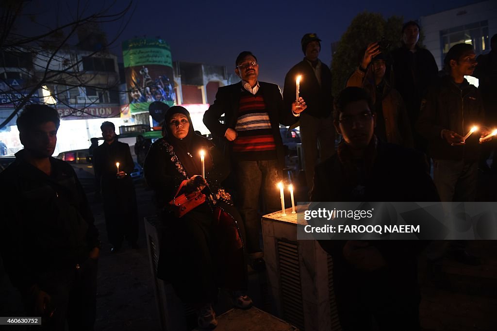
[[[286,109],[291,109],[296,98],[296,79],[301,75],[299,95],[307,105],[306,114],[314,117],[328,117],[333,110],[333,96],[331,95],[331,71],[327,65],[321,63],[321,86],[316,74],[307,60],[297,63],[285,77],[283,100]]]

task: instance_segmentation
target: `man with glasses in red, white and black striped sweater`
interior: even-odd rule
[[[262,215],[281,208],[276,184],[282,178],[285,155],[279,125],[294,124],[297,117],[292,112],[300,114],[307,106],[299,98],[287,108],[278,85],[259,82],[259,64],[251,52],[240,53],[235,66],[241,82],[220,87],[203,120],[225,145],[226,160],[235,174],[235,204],[245,224],[248,260],[254,270],[262,271],[259,199],[263,197],[265,205]]]

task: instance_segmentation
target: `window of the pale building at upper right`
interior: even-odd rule
[[[473,45],[477,56],[487,53],[490,51],[488,21],[480,21],[441,30],[440,43],[442,59],[445,58],[445,54],[447,54],[452,46],[460,43]]]

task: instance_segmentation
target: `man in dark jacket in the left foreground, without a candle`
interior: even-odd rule
[[[17,119],[24,149],[0,173],[0,247],[26,316],[43,330],[93,330],[100,243],[71,165],[54,159],[57,110],[28,105]]]

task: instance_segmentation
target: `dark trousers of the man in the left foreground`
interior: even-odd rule
[[[53,316],[42,317],[42,326],[32,330],[92,331],[96,316],[96,276],[98,261],[88,258],[80,267],[46,271],[38,275],[38,287],[50,296],[47,310]],[[32,297],[23,298],[28,316],[36,316]]]

